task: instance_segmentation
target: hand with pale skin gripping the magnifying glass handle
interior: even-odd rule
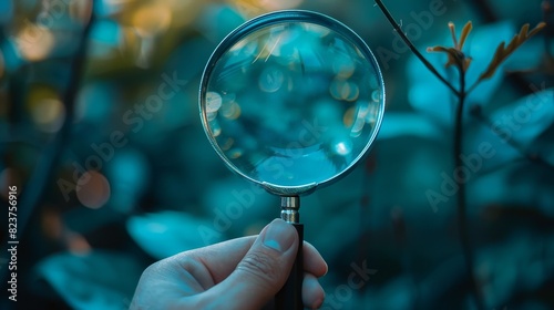
[[[177,254],[144,270],[131,309],[260,309],[285,285],[297,248],[296,229],[275,219],[258,236]],[[304,268],[304,304],[319,308],[327,264],[308,242]]]

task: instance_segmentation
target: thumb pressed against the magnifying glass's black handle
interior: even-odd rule
[[[281,219],[267,225],[214,297],[227,301],[226,309],[260,309],[285,285],[298,249],[296,229]]]

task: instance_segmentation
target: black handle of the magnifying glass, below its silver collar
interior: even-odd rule
[[[291,224],[298,232],[298,252],[295,265],[290,269],[285,286],[275,296],[275,309],[279,310],[301,310],[302,303],[302,281],[304,281],[304,224]]]

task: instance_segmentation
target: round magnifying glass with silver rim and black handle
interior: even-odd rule
[[[281,197],[280,217],[299,249],[278,309],[304,309],[299,196],[350,172],[370,149],[384,113],[384,85],[370,49],[327,16],[260,16],[216,48],[202,76],[201,118],[225,164]]]

